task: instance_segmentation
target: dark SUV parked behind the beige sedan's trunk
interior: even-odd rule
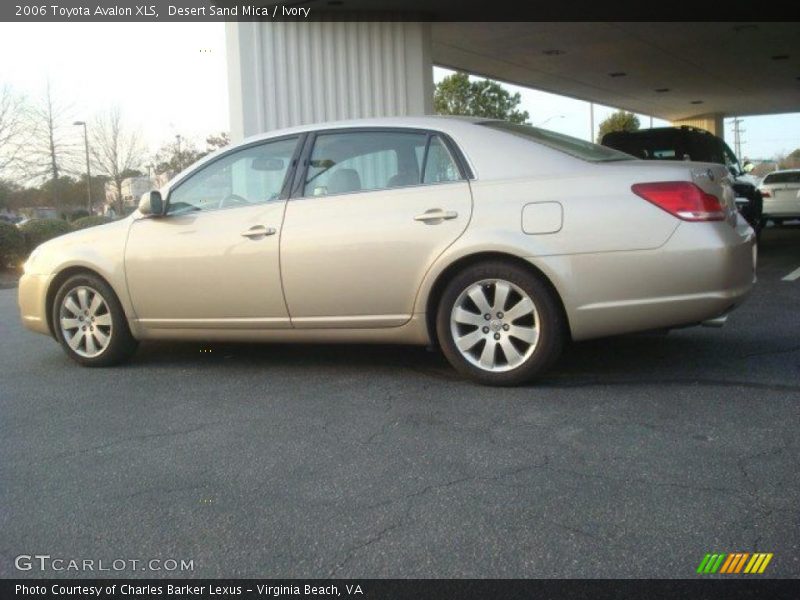
[[[756,232],[761,230],[761,192],[742,179],[745,171],[728,145],[705,129],[683,126],[613,131],[604,135],[601,143],[644,160],[692,160],[725,165],[733,176],[739,212]]]

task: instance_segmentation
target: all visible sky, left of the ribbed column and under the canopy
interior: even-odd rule
[[[31,99],[48,77],[69,122],[117,105],[150,152],[176,134],[204,145],[229,130],[224,23],[0,23],[0,86]],[[435,68],[434,80],[449,72]],[[533,125],[589,139],[589,103],[507,85]],[[595,126],[615,109],[595,105]],[[640,115],[641,126],[650,118]],[[654,119],[653,125],[667,125]],[[800,113],[745,117],[742,154],[772,158],[800,147]],[[82,130],[75,127],[75,141]],[[732,123],[726,139],[732,146]]]

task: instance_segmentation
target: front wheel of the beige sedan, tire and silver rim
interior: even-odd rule
[[[138,342],[114,290],[97,275],[67,279],[52,307],[56,339],[84,367],[109,367],[133,355]]]

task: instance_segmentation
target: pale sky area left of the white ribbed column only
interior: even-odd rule
[[[152,152],[229,130],[224,23],[0,23],[0,56],[0,86],[35,100],[49,77],[69,123],[117,105]]]

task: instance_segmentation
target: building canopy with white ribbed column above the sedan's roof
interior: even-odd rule
[[[446,0],[404,1],[432,22],[380,21],[346,4],[345,14],[330,9],[318,22],[225,24],[233,141],[314,122],[430,114],[433,65],[720,137],[726,117],[797,110],[797,72],[783,60],[800,55],[793,23],[461,22],[460,4]]]

